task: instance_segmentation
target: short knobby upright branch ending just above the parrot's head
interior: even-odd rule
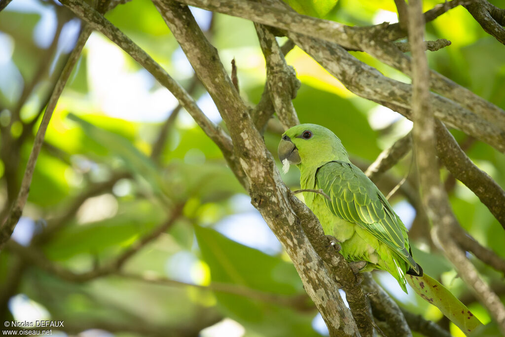
[[[287,65],[275,36],[264,25],[255,23],[261,49],[267,65],[267,84],[270,99],[284,129],[300,123],[292,99],[300,87],[293,67]]]

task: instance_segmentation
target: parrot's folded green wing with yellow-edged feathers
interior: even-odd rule
[[[419,272],[409,253],[405,225],[358,167],[341,161],[326,163],[316,173],[316,185],[330,197],[331,201],[323,199],[334,215],[367,229]]]

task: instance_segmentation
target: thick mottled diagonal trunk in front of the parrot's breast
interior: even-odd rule
[[[252,123],[248,109],[219,62],[215,48],[201,33],[186,6],[160,0],[155,1],[155,6],[216,103],[230,130],[235,160],[246,174],[252,204],[260,211],[293,261],[307,293],[321,312],[330,335],[358,335],[354,319],[343,305],[331,274],[293,214],[288,199],[292,194],[282,183],[273,158]],[[306,207],[305,209],[310,212]],[[318,223],[313,214],[312,218]],[[319,228],[322,232],[320,225]],[[318,238],[327,245],[323,235]]]

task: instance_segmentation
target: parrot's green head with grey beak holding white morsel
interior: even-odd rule
[[[300,124],[288,129],[282,134],[277,151],[284,173],[289,165],[319,167],[332,160],[349,161],[340,139],[317,124]]]

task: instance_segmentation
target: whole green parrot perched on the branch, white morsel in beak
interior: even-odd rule
[[[340,139],[316,124],[300,124],[284,132],[279,143],[284,173],[298,166],[307,206],[324,232],[340,243],[340,253],[355,271],[389,272],[407,293],[406,274],[423,276],[414,261],[407,228],[375,184],[349,161]],[[356,270],[357,269],[357,270]]]

